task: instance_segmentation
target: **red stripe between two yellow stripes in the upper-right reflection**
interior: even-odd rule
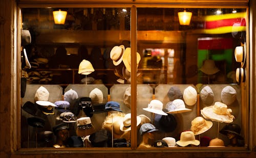
[[[244,27],[246,23],[243,21],[244,18],[232,18],[215,21],[205,21],[205,29],[215,29],[219,27],[232,26],[234,23],[240,23],[240,26]]]

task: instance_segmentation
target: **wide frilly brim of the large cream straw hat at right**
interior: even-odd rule
[[[229,115],[218,115],[214,113],[214,110],[212,109],[214,106],[205,107],[201,110],[201,114],[205,119],[211,119],[212,121],[216,122],[225,122],[225,123],[231,123],[233,122],[234,117],[230,117]],[[233,115],[231,115],[233,116]]]

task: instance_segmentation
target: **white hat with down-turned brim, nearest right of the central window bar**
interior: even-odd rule
[[[165,112],[163,112],[163,103],[157,99],[151,100],[147,108],[143,108],[143,110],[159,115],[167,115]]]

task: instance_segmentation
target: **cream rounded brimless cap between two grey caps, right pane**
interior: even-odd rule
[[[194,106],[197,102],[197,90],[192,86],[188,86],[183,91],[183,99],[188,106]]]

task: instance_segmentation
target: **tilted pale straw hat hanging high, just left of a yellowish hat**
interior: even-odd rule
[[[110,51],[110,58],[115,66],[122,62],[124,55],[124,45],[114,46]]]

